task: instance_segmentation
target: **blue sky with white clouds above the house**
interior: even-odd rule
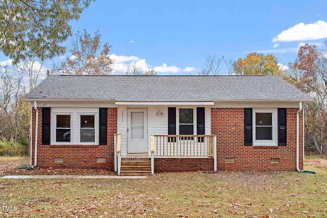
[[[325,0],[98,0],[71,25],[73,33],[100,31],[112,45],[114,70],[135,61],[158,75],[189,75],[198,74],[213,54],[237,60],[256,51],[287,65],[300,45],[326,40],[326,9]]]

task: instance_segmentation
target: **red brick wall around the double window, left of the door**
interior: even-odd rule
[[[114,138],[117,133],[117,108],[108,108],[107,144],[102,146],[86,145],[43,145],[42,144],[42,108],[39,109],[37,166],[56,168],[114,168]],[[32,164],[34,164],[35,115],[32,112]],[[63,158],[62,163],[55,158]],[[97,163],[97,158],[105,158],[104,163]]]

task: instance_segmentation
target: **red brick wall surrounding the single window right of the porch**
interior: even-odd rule
[[[296,171],[296,112],[287,109],[287,146],[244,146],[244,109],[212,108],[212,134],[217,135],[218,169]],[[299,168],[303,168],[303,120],[299,114]],[[234,160],[234,163],[226,161]],[[271,159],[279,163],[271,163]],[[227,159],[227,160],[226,160]]]

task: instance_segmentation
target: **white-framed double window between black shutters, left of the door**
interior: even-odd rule
[[[51,117],[52,144],[99,144],[99,108],[52,108]]]

